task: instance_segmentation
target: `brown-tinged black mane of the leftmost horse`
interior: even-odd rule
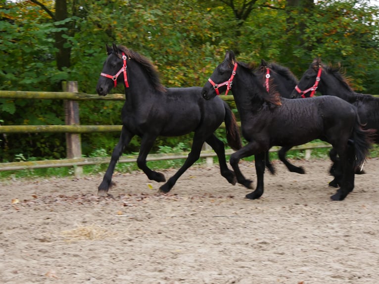
[[[127,58],[133,59],[139,64],[141,64],[155,90],[160,92],[166,92],[166,89],[163,87],[161,83],[157,68],[151,63],[149,59],[123,45],[119,45],[117,46],[117,48],[120,51],[118,56],[121,56],[121,52],[124,52]]]

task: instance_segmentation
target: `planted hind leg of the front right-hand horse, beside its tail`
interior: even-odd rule
[[[341,201],[345,199],[347,194],[349,194],[354,189],[354,159],[355,150],[353,145],[348,145],[346,153],[339,153],[340,164],[342,168],[342,179],[341,187],[337,190],[335,194],[331,196],[332,200]]]

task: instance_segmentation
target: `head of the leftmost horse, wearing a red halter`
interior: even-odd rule
[[[108,57],[96,85],[98,95],[107,95],[113,87],[117,86],[117,82],[124,82],[125,87],[129,87],[126,74],[127,56],[115,44],[112,47],[106,45],[106,52]]]

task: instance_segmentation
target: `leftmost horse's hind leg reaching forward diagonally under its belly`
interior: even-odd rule
[[[193,141],[192,141],[192,148],[190,153],[188,154],[188,157],[186,161],[184,162],[183,166],[173,175],[167,183],[165,183],[163,186],[159,188],[160,192],[167,193],[169,192],[177,182],[177,180],[180,178],[181,175],[194,163],[196,162],[200,157],[200,151],[201,147],[204,143],[203,135],[200,135],[198,132],[195,132],[193,135]]]

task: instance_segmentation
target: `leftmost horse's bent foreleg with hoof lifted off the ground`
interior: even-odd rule
[[[156,138],[156,135],[150,134],[144,134],[142,136],[140,153],[137,158],[137,165],[145,173],[149,180],[161,183],[166,181],[164,175],[162,173],[152,171],[151,169],[149,169],[149,167],[147,167],[146,164],[146,157],[150,152]]]

